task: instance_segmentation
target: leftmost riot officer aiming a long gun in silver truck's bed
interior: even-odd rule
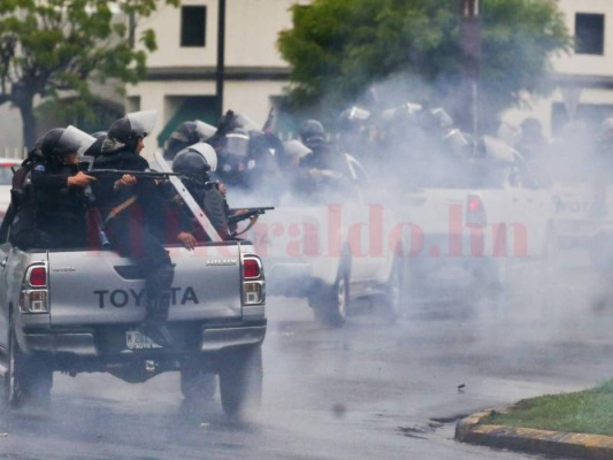
[[[12,239],[19,247],[85,247],[85,189],[95,181],[80,170],[78,153],[91,137],[73,126],[45,134],[42,158],[31,171],[31,196],[13,221]]]

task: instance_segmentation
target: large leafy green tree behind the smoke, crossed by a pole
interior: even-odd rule
[[[550,55],[568,50],[562,13],[549,0],[481,0],[480,104],[498,115],[522,91],[546,94]],[[338,111],[377,84],[387,102],[455,107],[462,75],[460,2],[314,0],[293,6],[278,47],[292,65],[295,108]],[[494,118],[494,117],[488,117]]]

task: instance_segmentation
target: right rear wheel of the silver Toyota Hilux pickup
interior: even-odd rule
[[[219,361],[219,393],[226,415],[244,418],[262,404],[262,347],[223,352]]]

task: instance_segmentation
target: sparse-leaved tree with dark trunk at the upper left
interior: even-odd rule
[[[0,1],[0,104],[20,110],[28,148],[36,141],[37,98],[77,94],[84,105],[92,82],[136,83],[144,77],[155,34],[134,33],[157,7],[156,0]],[[132,46],[135,38],[142,49]]]

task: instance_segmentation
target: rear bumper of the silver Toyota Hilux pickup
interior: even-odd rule
[[[127,328],[82,328],[75,330],[27,329],[20,338],[26,353],[45,353],[74,358],[114,360],[140,355],[194,355],[218,352],[240,345],[257,345],[264,341],[266,320],[226,325],[200,325],[189,329],[189,337],[175,325],[171,326],[177,348],[173,350],[130,350],[126,347]]]

